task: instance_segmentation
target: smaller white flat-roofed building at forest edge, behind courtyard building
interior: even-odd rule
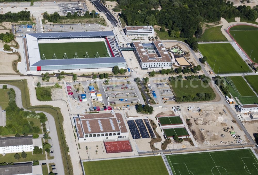
[[[126,35],[137,35],[137,36],[148,36],[154,34],[154,28],[152,25],[146,26],[126,26],[125,27]]]

